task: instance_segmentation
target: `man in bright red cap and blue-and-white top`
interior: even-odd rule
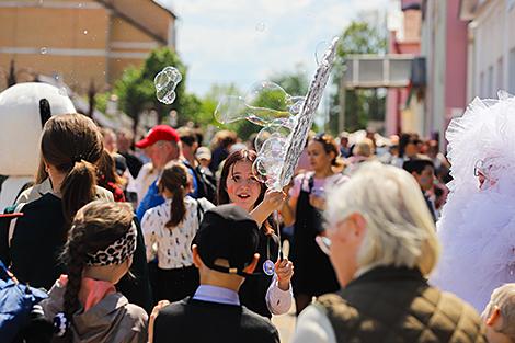
[[[154,126],[140,141],[136,144],[136,147],[144,149],[145,153],[152,161],[151,163],[145,164],[139,171],[138,178],[136,179],[137,192],[139,206],[136,210],[136,216],[139,220],[145,215],[147,209],[156,207],[164,203],[164,198],[161,196],[158,190],[157,180],[161,174],[164,165],[173,160],[184,159],[181,153],[181,144],[179,134],[175,129],[168,125]],[[188,169],[190,174],[192,171]],[[193,180],[193,197],[196,197],[196,183],[195,175],[192,174]]]

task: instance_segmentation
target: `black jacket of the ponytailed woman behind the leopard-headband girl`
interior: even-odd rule
[[[23,283],[36,288],[50,289],[60,274],[66,274],[59,255],[65,245],[67,228],[62,214],[62,202],[52,193],[27,203],[23,217],[18,218],[11,247],[8,248],[5,226],[0,235],[0,256],[12,273]],[[116,288],[129,302],[152,309],[150,284],[145,251],[144,235],[136,220],[138,241],[133,256],[131,275],[125,275]]]

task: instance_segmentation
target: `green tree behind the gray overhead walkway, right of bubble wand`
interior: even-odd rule
[[[334,83],[340,84],[340,77],[345,68],[345,57],[357,54],[385,54],[387,39],[381,27],[376,27],[366,21],[353,21],[343,32],[337,47],[337,58],[334,66]],[[331,99],[329,129],[337,134],[339,94]],[[377,90],[347,90],[345,95],[345,129],[356,130],[366,128],[369,119],[385,118],[385,96]]]

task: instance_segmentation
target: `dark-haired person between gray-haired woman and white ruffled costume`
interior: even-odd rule
[[[436,222],[435,207],[433,201],[427,196],[427,191],[433,188],[433,181],[435,179],[435,167],[433,161],[428,158],[417,157],[405,161],[402,164],[402,169],[415,178],[416,183],[419,183],[422,194],[424,195],[427,209],[430,210],[433,220]]]

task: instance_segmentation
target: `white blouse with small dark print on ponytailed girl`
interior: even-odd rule
[[[198,211],[197,204],[202,210]],[[167,199],[163,204],[150,208],[141,220],[141,230],[147,247],[147,261],[158,256],[158,266],[162,270],[174,270],[193,265],[192,241],[198,230],[204,213],[213,207],[205,198],[198,201],[186,196],[186,215],[184,219],[174,228],[167,228],[170,220],[170,206],[172,199]]]

